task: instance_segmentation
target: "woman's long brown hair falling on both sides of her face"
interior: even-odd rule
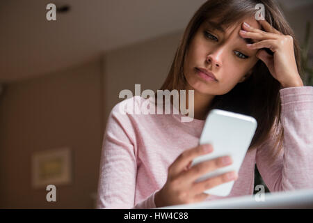
[[[173,89],[186,89],[184,77],[184,60],[186,51],[198,28],[204,21],[219,20],[218,24],[230,26],[248,15],[254,16],[257,3],[262,3],[265,9],[265,20],[275,29],[294,38],[294,53],[298,72],[300,73],[300,48],[294,32],[285,20],[282,10],[272,0],[209,0],[200,6],[188,23],[179,46],[172,61],[168,77],[160,90],[172,91]],[[273,78],[266,65],[257,61],[252,74],[244,82],[236,84],[234,88],[224,95],[216,95],[209,110],[224,109],[231,112],[246,114],[257,120],[257,130],[250,144],[251,151],[266,143],[267,139],[273,140],[271,149],[272,161],[282,151],[283,128],[280,121],[280,82]]]

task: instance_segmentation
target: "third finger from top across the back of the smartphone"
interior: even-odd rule
[[[223,183],[230,182],[232,180],[236,180],[238,178],[238,174],[236,171],[230,171],[225,174],[221,174],[218,176],[215,176],[213,178],[209,178],[207,180],[202,180],[198,183],[193,184],[193,192],[195,194],[199,194],[201,192],[204,192],[205,190],[209,190],[213,187],[216,187],[218,185],[221,185]]]

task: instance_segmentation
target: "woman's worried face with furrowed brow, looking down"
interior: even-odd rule
[[[203,22],[191,40],[184,63],[184,75],[191,89],[198,93],[223,95],[250,75],[257,63],[256,49],[248,49],[239,36],[243,22],[261,29],[254,17],[246,18],[227,29]],[[217,80],[201,75],[198,68],[211,72]],[[247,76],[248,77],[248,76]]]

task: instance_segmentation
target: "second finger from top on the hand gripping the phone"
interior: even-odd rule
[[[229,156],[218,157],[214,160],[208,160],[200,162],[199,164],[194,165],[188,171],[179,175],[179,178],[184,178],[188,182],[192,183],[196,179],[200,178],[204,174],[207,174],[209,171],[214,171],[220,167],[225,167],[229,164],[232,164],[232,158]]]

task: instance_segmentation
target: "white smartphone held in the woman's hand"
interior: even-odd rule
[[[199,144],[211,144],[214,151],[193,159],[191,167],[199,162],[225,155],[232,157],[233,162],[231,165],[202,175],[195,182],[225,174],[229,171],[238,173],[256,129],[257,121],[252,116],[212,109],[204,123]],[[205,190],[204,193],[225,197],[230,194],[233,185],[234,180]]]

